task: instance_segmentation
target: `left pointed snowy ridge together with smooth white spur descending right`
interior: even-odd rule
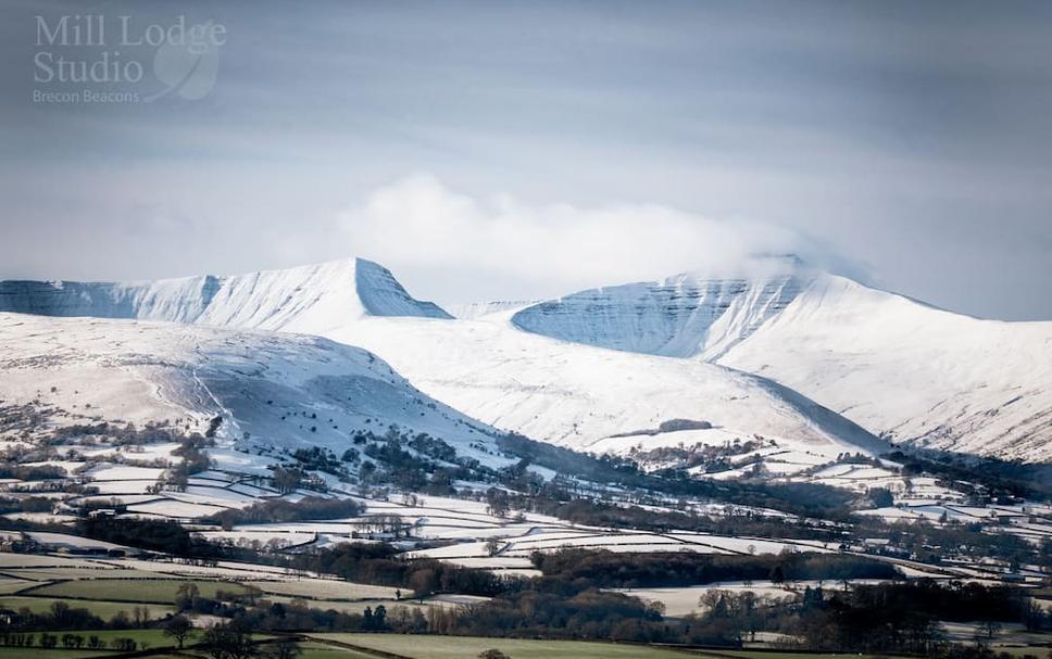
[[[3,308],[18,312],[277,329],[361,345],[473,418],[575,448],[723,444],[763,435],[824,461],[843,451],[881,447],[838,415],[748,373],[524,331],[509,319],[523,304],[479,305],[465,309],[478,320],[452,319],[361,259],[226,279],[14,282],[0,291],[7,292]],[[681,420],[712,428],[668,430]]]

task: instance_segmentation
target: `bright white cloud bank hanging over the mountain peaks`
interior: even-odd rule
[[[529,205],[505,193],[481,200],[429,174],[377,189],[339,224],[359,254],[396,269],[475,271],[559,292],[682,271],[740,274],[764,253],[824,259],[814,241],[777,225],[659,204]]]

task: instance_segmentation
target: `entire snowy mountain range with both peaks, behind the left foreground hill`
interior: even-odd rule
[[[726,433],[705,441],[874,449],[885,434],[1052,459],[1052,324],[951,314],[794,257],[459,309],[469,319],[361,259],[152,283],[4,282],[0,308],[325,335],[471,417],[579,448],[687,419]]]

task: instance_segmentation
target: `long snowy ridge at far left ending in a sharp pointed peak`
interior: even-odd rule
[[[414,300],[390,271],[358,259],[234,277],[145,282],[2,281],[0,312],[196,322],[322,333],[364,316],[449,314]]]

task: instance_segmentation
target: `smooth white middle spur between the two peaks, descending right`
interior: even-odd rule
[[[510,315],[368,318],[328,335],[377,353],[428,395],[474,418],[572,448],[592,449],[611,435],[675,419],[712,423],[712,431],[691,435],[702,443],[762,434],[834,456],[884,448],[837,415],[752,376],[540,337],[516,329]],[[619,438],[602,447],[647,445],[662,435],[678,433]]]

